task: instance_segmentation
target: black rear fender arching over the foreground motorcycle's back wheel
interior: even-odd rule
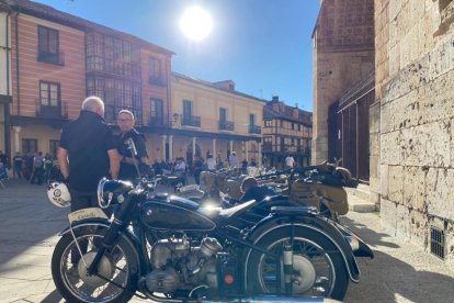
[[[295,207],[295,209],[300,209],[300,207]],[[298,214],[295,214],[295,215],[288,215],[288,214],[270,215],[263,218],[249,232],[249,234],[247,235],[247,239],[249,243],[256,245],[257,243],[260,242],[260,239],[266,236],[266,234],[270,233],[271,231],[274,231],[275,228],[285,228],[292,225],[310,228],[319,233],[320,237],[325,237],[326,239],[331,242],[342,255],[342,259],[349,271],[350,280],[355,283],[360,281],[360,268],[356,263],[356,259],[354,258],[353,251],[349,243],[347,243],[345,238],[340,233],[340,231],[336,228],[336,226],[333,226],[327,220],[318,217],[313,212],[299,212]],[[245,266],[246,268],[245,278],[247,277],[250,254],[251,254],[251,249],[248,249],[245,256],[245,265],[246,265]]]

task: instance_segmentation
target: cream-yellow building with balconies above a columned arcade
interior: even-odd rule
[[[231,80],[207,82],[181,74],[171,77],[171,127],[162,132],[163,159],[207,154],[226,162],[231,152],[238,159],[261,162],[264,100],[235,90]],[[167,148],[164,148],[167,146]]]

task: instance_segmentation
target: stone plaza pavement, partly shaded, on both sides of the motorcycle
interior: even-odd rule
[[[5,184],[0,188],[0,301],[64,302],[49,265],[68,210],[53,206],[44,186]],[[345,302],[453,302],[454,271],[442,261],[385,233],[377,214],[350,212],[342,221],[375,251],[375,259],[359,259],[361,281],[350,283]]]

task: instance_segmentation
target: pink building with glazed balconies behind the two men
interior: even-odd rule
[[[61,126],[79,115],[87,96],[104,100],[112,125],[120,110],[134,112],[147,142],[157,139],[150,127],[156,100],[167,116],[161,125],[169,125],[172,52],[26,0],[2,2],[0,15],[0,32],[7,33],[1,36],[7,50],[0,54],[5,61],[0,88],[7,96],[0,100],[0,149],[10,156],[55,156]]]

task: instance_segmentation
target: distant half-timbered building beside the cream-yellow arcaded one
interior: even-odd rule
[[[285,157],[292,155],[299,167],[310,164],[313,114],[290,106],[279,97],[263,108],[262,152],[269,167],[282,169]]]

